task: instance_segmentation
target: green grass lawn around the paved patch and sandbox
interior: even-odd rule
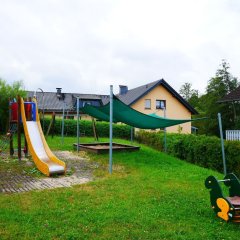
[[[75,140],[48,142],[71,150]],[[89,156],[107,169],[107,154]],[[207,176],[221,174],[142,145],[113,161],[114,173],[95,182],[0,194],[0,239],[239,239],[238,225],[214,215],[204,187]]]

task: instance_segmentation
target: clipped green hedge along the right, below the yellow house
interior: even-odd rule
[[[164,149],[164,133],[139,131],[136,140],[157,150]],[[240,175],[240,142],[225,141],[227,171]],[[217,137],[167,134],[167,152],[196,165],[223,172],[221,141]]]

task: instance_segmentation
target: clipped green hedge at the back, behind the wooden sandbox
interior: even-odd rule
[[[44,119],[44,132],[47,132],[50,124],[50,119]],[[79,121],[80,134],[85,136],[93,136],[92,121],[80,120]],[[99,137],[109,137],[109,123],[107,122],[96,122],[96,130]],[[52,134],[53,128],[50,131]],[[62,131],[62,120],[55,120],[54,135],[61,135]],[[76,136],[77,135],[77,120],[65,119],[64,120],[64,135],[65,136]],[[125,124],[113,124],[113,137],[130,139],[131,127]]]

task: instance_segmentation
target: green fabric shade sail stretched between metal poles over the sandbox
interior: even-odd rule
[[[101,106],[93,107],[91,105],[85,105],[81,108],[83,113],[86,113],[94,118],[103,121],[109,121],[109,107],[110,103]],[[202,120],[203,118],[201,118]],[[122,122],[129,126],[141,128],[141,129],[157,129],[165,128],[181,123],[191,122],[199,120],[196,119],[169,119],[158,117],[156,114],[146,115],[138,112],[131,107],[121,102],[116,96],[113,96],[113,122]]]

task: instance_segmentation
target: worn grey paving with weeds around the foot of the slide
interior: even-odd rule
[[[19,193],[31,190],[71,187],[93,179],[92,172],[98,167],[96,163],[68,151],[58,151],[55,154],[66,162],[67,175],[73,172],[70,176],[34,178],[24,173],[0,172],[0,193]]]

